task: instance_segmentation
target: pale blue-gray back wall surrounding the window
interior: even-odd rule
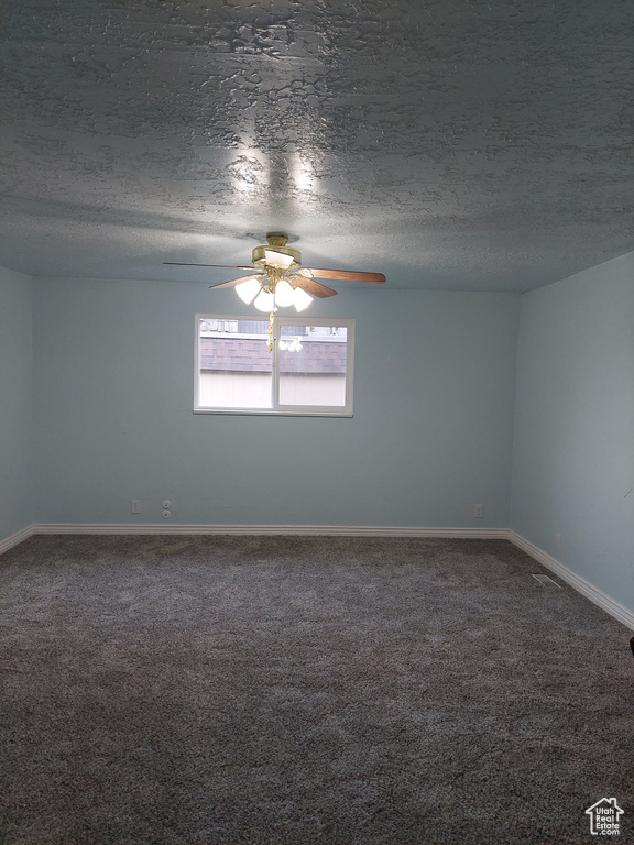
[[[195,416],[197,311],[252,309],[199,284],[36,284],[37,522],[162,523],[170,498],[174,524],[506,526],[518,296],[314,303],[357,319],[351,419]]]

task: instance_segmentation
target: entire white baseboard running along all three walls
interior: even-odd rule
[[[164,525],[164,524],[40,524],[31,525],[4,540],[0,555],[34,535],[111,534],[111,535],[286,535],[298,537],[429,537],[438,539],[510,540],[549,569],[573,590],[634,630],[634,613],[587,581],[540,548],[509,528],[418,528],[405,526],[350,525]]]

